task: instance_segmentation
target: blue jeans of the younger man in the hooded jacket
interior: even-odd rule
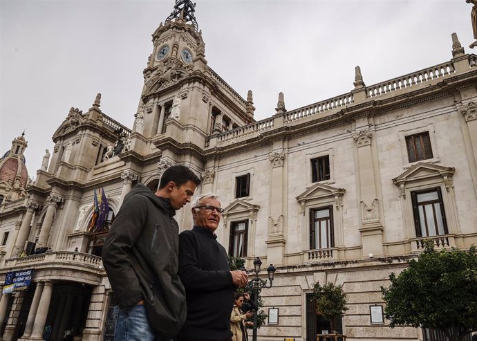
[[[174,341],[160,338],[149,326],[144,304],[121,309],[114,307],[114,341]]]

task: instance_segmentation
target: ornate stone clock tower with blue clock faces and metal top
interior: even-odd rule
[[[133,136],[144,154],[157,148],[161,158],[200,170],[208,136],[254,120],[247,101],[207,65],[194,12],[190,0],[176,0],[152,35]]]

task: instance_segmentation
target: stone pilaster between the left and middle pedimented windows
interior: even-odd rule
[[[283,149],[277,149],[268,154],[272,163],[270,181],[270,216],[268,217],[268,239],[267,262],[274,265],[283,264],[283,254],[285,253],[285,234],[283,225],[285,216],[283,215],[283,164],[286,153]],[[254,238],[254,237],[252,237]]]

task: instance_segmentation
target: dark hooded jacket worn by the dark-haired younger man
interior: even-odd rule
[[[178,271],[178,224],[169,199],[138,184],[124,197],[102,250],[121,308],[144,299],[149,325],[174,338],[187,313]]]

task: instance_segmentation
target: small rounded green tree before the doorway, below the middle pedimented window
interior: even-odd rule
[[[317,305],[317,311],[330,322],[333,333],[335,332],[335,318],[343,317],[344,312],[348,310],[346,299],[342,286],[335,286],[329,282],[324,286],[319,283],[313,284],[313,301]]]

